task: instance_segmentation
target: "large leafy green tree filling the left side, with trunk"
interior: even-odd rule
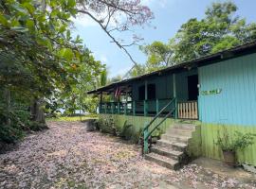
[[[0,85],[11,95],[10,104],[17,102],[14,96],[26,106],[31,101],[31,121],[45,124],[46,98],[78,83],[82,67],[87,79],[93,77],[93,69],[98,72],[101,67],[96,61],[87,61],[90,56],[82,40],[71,37],[68,27],[77,13],[75,6],[71,0],[0,2]],[[9,95],[5,95],[7,99]],[[11,108],[1,109],[0,118],[1,128],[10,130],[9,119],[11,127],[23,124],[21,115]]]

